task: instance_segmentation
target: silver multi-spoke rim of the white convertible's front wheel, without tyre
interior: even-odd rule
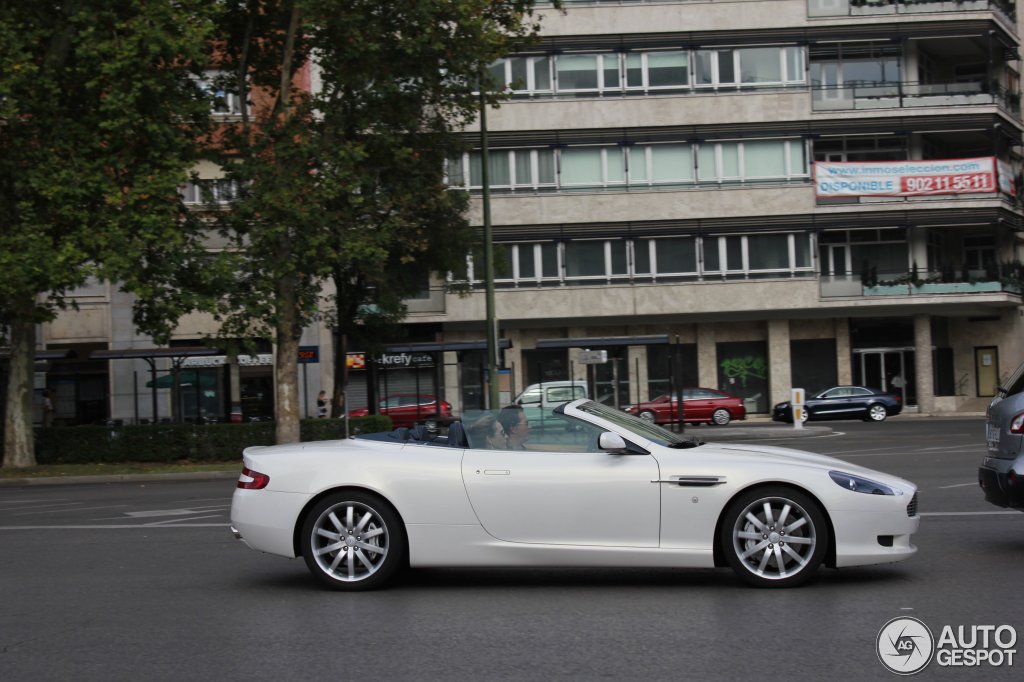
[[[743,568],[765,581],[782,581],[814,568],[814,519],[793,500],[768,497],[748,505],[732,528],[732,549]]]

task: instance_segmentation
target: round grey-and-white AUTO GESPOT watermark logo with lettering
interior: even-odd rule
[[[938,639],[918,619],[893,619],[876,640],[879,660],[896,675],[913,675],[934,659],[943,668],[1013,666],[1017,654],[1013,626],[943,626]]]

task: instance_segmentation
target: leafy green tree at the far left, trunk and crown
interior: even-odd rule
[[[35,326],[89,278],[145,298],[199,245],[178,187],[210,110],[194,78],[209,52],[209,5],[0,5],[0,330],[10,345],[4,466],[35,464]],[[190,304],[186,289],[172,287],[161,305],[140,307],[141,327],[166,333],[172,308]]]

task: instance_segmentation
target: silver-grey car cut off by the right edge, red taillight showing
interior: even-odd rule
[[[1024,509],[1024,365],[999,386],[985,419],[988,453],[978,468],[985,499]]]

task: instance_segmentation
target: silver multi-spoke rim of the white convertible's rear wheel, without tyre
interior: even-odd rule
[[[380,513],[361,502],[328,507],[316,518],[309,537],[316,565],[343,583],[358,583],[376,573],[387,558],[389,540]]]

